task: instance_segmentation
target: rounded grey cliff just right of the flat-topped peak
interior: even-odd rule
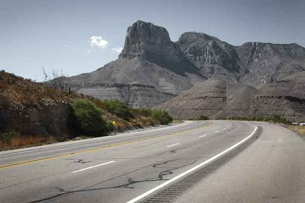
[[[176,44],[208,78],[227,76],[235,80],[240,75],[238,55],[226,42],[205,33],[185,32]]]

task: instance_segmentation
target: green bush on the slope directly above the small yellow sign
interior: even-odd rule
[[[134,118],[132,109],[127,104],[124,104],[117,99],[105,100],[104,102],[106,109],[117,117],[123,118],[127,121],[130,121],[130,119]]]

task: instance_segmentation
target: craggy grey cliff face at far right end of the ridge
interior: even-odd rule
[[[305,70],[305,48],[297,44],[250,42],[235,49],[246,72],[241,83],[261,87]]]

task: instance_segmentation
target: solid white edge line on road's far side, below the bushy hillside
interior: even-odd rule
[[[186,124],[186,125],[182,125],[182,127],[186,127],[186,126],[189,126],[189,125],[194,125],[198,123],[198,121],[196,122],[193,122],[193,123],[189,123],[189,124]],[[29,153],[29,152],[36,152],[36,151],[41,151],[41,150],[47,150],[47,149],[55,149],[55,148],[60,148],[60,147],[70,147],[70,146],[75,146],[75,145],[84,145],[84,144],[87,144],[87,143],[95,143],[95,142],[101,142],[101,141],[108,141],[108,140],[114,140],[114,139],[117,139],[117,138],[129,138],[129,137],[133,137],[133,136],[136,136],[137,134],[147,134],[147,133],[155,133],[155,132],[160,132],[160,131],[165,131],[165,130],[168,130],[170,128],[180,128],[180,126],[168,126],[169,128],[167,127],[164,127],[163,129],[149,129],[151,131],[147,131],[147,132],[135,132],[135,133],[132,133],[132,134],[122,134],[122,135],[118,135],[117,137],[115,138],[104,138],[104,139],[99,139],[99,140],[93,140],[93,141],[87,141],[87,142],[82,142],[82,143],[72,143],[72,144],[67,144],[67,145],[60,145],[60,146],[55,146],[55,147],[46,147],[46,148],[41,148],[41,149],[33,149],[33,150],[27,150],[27,151],[21,151],[21,152],[15,152],[15,153],[8,153],[8,154],[0,154],[0,157],[1,156],[9,156],[9,155],[14,155],[14,154],[23,154],[23,153]],[[165,129],[166,128],[166,129]]]

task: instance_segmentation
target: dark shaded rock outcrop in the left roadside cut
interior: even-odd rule
[[[40,109],[0,110],[0,129],[2,132],[17,131],[22,135],[67,139],[73,131],[69,123],[72,113],[72,108],[65,104],[48,105]]]

